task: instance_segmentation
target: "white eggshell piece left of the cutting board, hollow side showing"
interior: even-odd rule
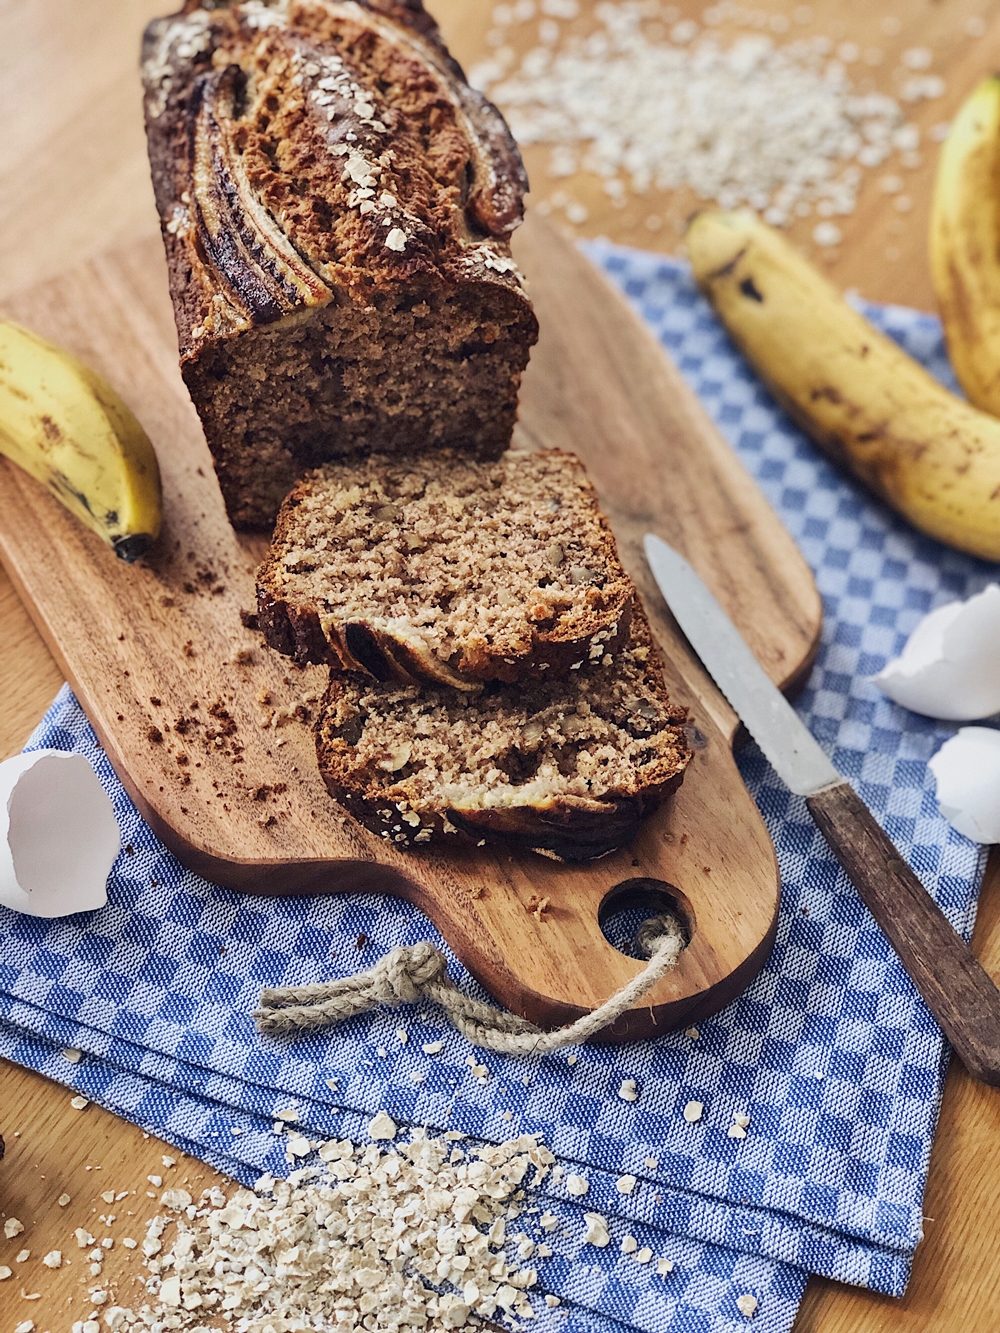
[[[0,904],[28,916],[108,901],[121,848],[111,797],[83,754],[35,750],[0,764]]]

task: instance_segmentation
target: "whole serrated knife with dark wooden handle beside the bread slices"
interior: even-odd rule
[[[805,797],[961,1062],[1000,1086],[1000,990],[688,561],[652,533],[644,547],[675,620],[777,776]]]

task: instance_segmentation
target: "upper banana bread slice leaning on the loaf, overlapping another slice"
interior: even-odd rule
[[[560,449],[328,464],[285,500],[257,573],[272,648],[465,689],[613,657],[632,596],[583,464]]]

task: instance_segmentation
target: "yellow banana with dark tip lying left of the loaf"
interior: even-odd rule
[[[0,453],[127,561],[160,532],[160,469],[112,387],[19,324],[0,321]]]

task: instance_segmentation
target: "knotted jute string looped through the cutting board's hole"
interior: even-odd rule
[[[677,965],[685,942],[675,917],[659,916],[644,921],[636,933],[636,944],[649,958],[645,968],[600,1008],[555,1032],[544,1032],[527,1018],[463,994],[448,976],[444,954],[427,941],[392,949],[368,972],[340,981],[261,990],[260,1008],[253,1017],[260,1032],[296,1036],[333,1026],[380,1006],[395,1009],[401,1004],[429,1000],[444,1010],[473,1046],[505,1056],[545,1054],[563,1046],[577,1046],[608,1028]]]

